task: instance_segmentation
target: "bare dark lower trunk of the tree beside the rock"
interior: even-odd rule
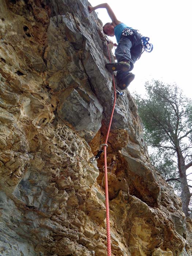
[[[177,160],[178,160],[178,170],[181,181],[181,201],[182,201],[182,210],[187,217],[189,215],[189,202],[191,199],[191,192],[189,191],[189,186],[187,183],[187,175],[186,175],[186,166],[185,159],[182,155],[180,147],[177,147]]]

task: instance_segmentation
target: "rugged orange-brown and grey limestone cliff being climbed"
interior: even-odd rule
[[[106,255],[103,155],[113,106],[86,0],[0,0],[0,252]],[[113,56],[111,56],[113,58]],[[151,165],[128,91],[108,140],[113,256],[192,255],[192,220]]]

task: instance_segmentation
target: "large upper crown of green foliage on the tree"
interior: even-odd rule
[[[174,84],[158,80],[145,84],[146,96],[135,94],[139,115],[144,125],[144,136],[152,147],[173,149],[181,138],[183,148],[190,147],[192,132],[192,101]],[[186,154],[188,150],[186,149]]]

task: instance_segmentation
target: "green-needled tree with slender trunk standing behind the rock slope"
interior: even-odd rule
[[[147,82],[145,88],[144,98],[135,95],[145,140],[158,149],[160,158],[156,156],[153,161],[159,164],[161,173],[166,174],[166,180],[179,182],[182,209],[188,216],[192,196],[189,187],[192,186],[188,185],[186,171],[192,166],[192,100],[185,97],[176,84],[153,80]]]

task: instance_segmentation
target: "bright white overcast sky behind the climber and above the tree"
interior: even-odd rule
[[[136,75],[128,87],[144,94],[147,80],[176,83],[192,98],[192,2],[191,0],[89,0],[92,6],[108,3],[117,19],[150,37],[154,49],[135,63]],[[103,25],[111,22],[105,8],[96,10]],[[115,37],[109,37],[116,42]],[[191,173],[192,168],[187,173]],[[188,176],[188,178],[192,176]],[[192,182],[189,182],[192,185]],[[191,189],[190,189],[191,190]]]

